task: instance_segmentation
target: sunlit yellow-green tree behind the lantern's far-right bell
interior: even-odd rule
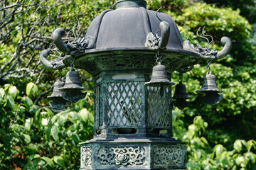
[[[196,36],[199,27],[206,26],[206,34],[213,35],[214,43],[210,47],[221,50],[220,38],[228,36],[233,42],[230,55],[210,64],[215,74],[218,88],[224,91],[224,99],[216,106],[207,106],[200,100],[200,96],[191,100],[189,109],[184,113],[186,126],[193,122],[193,116],[202,115],[209,124],[211,145],[221,143],[231,148],[231,139],[255,139],[255,55],[256,45],[252,42],[251,26],[240,16],[240,11],[231,8],[217,8],[205,3],[195,3],[181,9],[181,13],[167,11],[183,32],[184,40],[199,42],[203,47],[206,41]],[[187,85],[188,93],[196,96],[196,89],[200,89],[203,76],[206,74],[206,63],[197,64],[192,72],[184,75],[183,83]],[[177,74],[174,74],[174,80]],[[234,124],[235,123],[235,124]],[[242,128],[241,128],[242,127]],[[220,137],[221,136],[221,137]],[[223,140],[223,136],[228,141]]]

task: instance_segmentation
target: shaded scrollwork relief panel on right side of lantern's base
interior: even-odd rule
[[[183,146],[154,147],[154,163],[158,166],[180,166],[185,164]]]

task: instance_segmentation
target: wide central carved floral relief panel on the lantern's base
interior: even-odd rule
[[[144,147],[101,147],[98,160],[103,165],[142,165],[145,162]]]

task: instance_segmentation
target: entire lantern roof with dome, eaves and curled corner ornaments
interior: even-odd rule
[[[70,66],[85,69],[92,75],[102,71],[144,69],[150,72],[156,52],[169,73],[198,64],[201,60],[217,60],[228,55],[232,43],[223,37],[225,47],[218,52],[189,40],[183,42],[175,21],[166,13],[146,9],[144,0],[119,0],[116,9],[107,9],[97,16],[85,37],[65,44],[65,30],[57,28],[53,40],[65,52],[64,59],[49,62],[49,50],[43,50],[41,61],[46,67],[61,69]],[[207,38],[206,38],[207,39]],[[208,41],[209,42],[209,41]],[[75,60],[75,61],[74,61]]]

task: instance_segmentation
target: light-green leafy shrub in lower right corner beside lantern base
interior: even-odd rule
[[[182,115],[179,111],[174,112],[174,136],[188,142],[188,169],[255,169],[256,162],[256,141],[255,140],[235,140],[233,148],[228,150],[223,145],[214,147],[209,145],[206,123],[202,116],[198,115],[193,119],[193,124],[184,128],[184,123],[180,120]],[[182,130],[181,130],[182,129]]]

